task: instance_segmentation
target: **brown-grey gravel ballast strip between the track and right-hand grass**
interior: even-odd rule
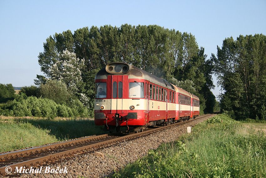
[[[51,169],[64,169],[68,173],[41,173],[21,174],[20,177],[110,177],[114,170],[136,161],[145,156],[150,149],[156,149],[161,143],[168,143],[187,132],[187,127],[193,127],[197,123],[207,120],[213,115],[179,125],[168,127],[165,130],[148,134],[134,140],[125,140],[108,147],[95,148],[87,153],[77,154],[71,158],[61,158],[54,164],[42,165],[43,169],[49,166]],[[36,167],[38,168],[38,167]]]

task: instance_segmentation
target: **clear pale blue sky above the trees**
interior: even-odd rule
[[[266,35],[266,1],[5,1],[0,0],[0,83],[33,84],[49,35],[84,26],[149,25],[191,32],[205,53],[226,37]],[[214,78],[216,80],[216,78]],[[213,90],[219,94],[219,87]]]

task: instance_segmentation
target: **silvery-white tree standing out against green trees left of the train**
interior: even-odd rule
[[[82,88],[81,69],[83,67],[84,59],[76,57],[74,52],[64,50],[50,68],[51,78],[64,82],[69,92],[76,95]]]

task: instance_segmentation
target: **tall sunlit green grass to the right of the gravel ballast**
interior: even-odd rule
[[[218,115],[114,177],[266,177],[265,154],[264,132]]]

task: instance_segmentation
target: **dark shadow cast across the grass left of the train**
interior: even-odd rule
[[[48,120],[48,119],[16,119],[17,122],[28,122],[33,126],[49,131],[58,140],[85,137],[90,135],[100,135],[106,133],[104,126],[95,126],[94,120]]]

